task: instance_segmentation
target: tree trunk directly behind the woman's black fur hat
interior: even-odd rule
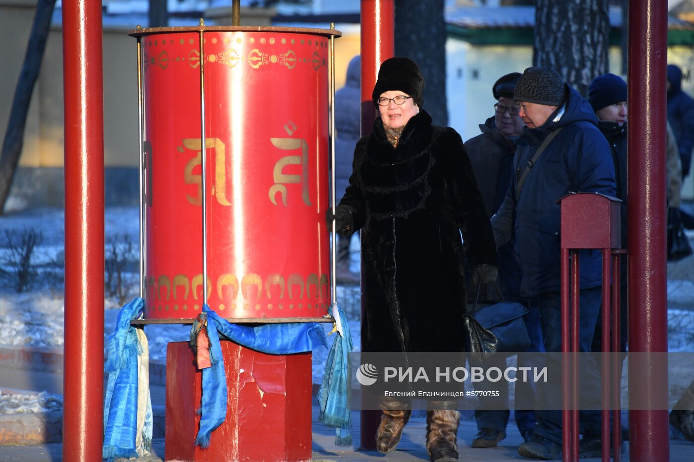
[[[424,108],[434,123],[447,126],[443,0],[395,0],[395,54],[417,63],[425,82]]]

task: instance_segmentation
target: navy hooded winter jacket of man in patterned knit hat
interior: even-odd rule
[[[560,289],[560,207],[557,200],[570,191],[616,195],[610,147],[598,130],[595,112],[589,102],[568,85],[566,94],[565,105],[543,126],[524,130],[514,157],[514,178],[511,178],[504,204],[491,221],[497,246],[508,239],[512,229],[516,231],[523,297]],[[563,129],[536,160],[521,194],[516,197],[516,182],[527,162],[545,137],[559,127]],[[581,251],[581,289],[602,284],[601,263],[599,250]]]

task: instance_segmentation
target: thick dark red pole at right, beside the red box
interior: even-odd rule
[[[629,351],[666,352],[666,65],[668,5],[629,3]],[[663,356],[659,356],[663,361]],[[629,411],[629,454],[634,462],[670,460],[667,375],[653,361],[632,367],[629,395],[648,409]],[[666,365],[659,363],[659,368]],[[663,400],[664,395],[664,400]],[[632,399],[629,400],[632,402]]]

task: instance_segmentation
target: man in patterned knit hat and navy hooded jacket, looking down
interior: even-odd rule
[[[542,316],[545,350],[561,351],[560,207],[557,200],[570,192],[616,195],[614,166],[607,139],[588,101],[566,85],[549,67],[529,67],[518,79],[514,99],[525,130],[514,157],[514,176],[504,203],[491,223],[497,246],[516,233],[521,262],[521,297]],[[536,155],[537,153],[540,155]],[[600,311],[602,258],[598,250],[580,252],[579,350],[591,351]],[[560,403],[561,363],[548,358],[548,382],[539,383],[539,403]],[[582,379],[599,384],[595,364],[582,368]],[[586,383],[586,382],[584,382]],[[582,397],[589,388],[582,387]],[[593,388],[593,393],[598,388]],[[599,394],[599,393],[598,393]],[[540,404],[530,442],[518,454],[534,459],[561,459],[561,412]],[[579,413],[584,438],[579,452],[600,454],[600,414]]]

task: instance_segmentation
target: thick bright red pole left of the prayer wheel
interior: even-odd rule
[[[101,461],[103,443],[101,31],[100,1],[62,1],[65,95],[64,461]]]

